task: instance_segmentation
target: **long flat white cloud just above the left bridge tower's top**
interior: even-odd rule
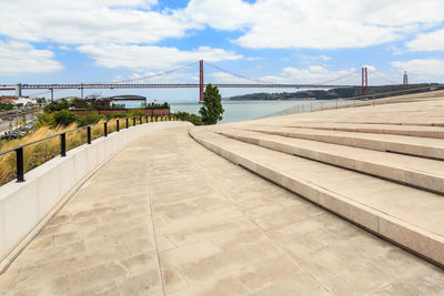
[[[176,48],[127,45],[127,44],[85,44],[77,49],[91,55],[95,64],[104,68],[129,68],[138,71],[164,71],[178,64],[198,60],[218,62],[239,60],[243,57],[223,49],[200,47],[196,50],[181,51]]]

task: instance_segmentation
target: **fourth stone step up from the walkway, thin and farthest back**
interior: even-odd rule
[[[255,125],[258,126],[258,125]],[[279,126],[284,126],[279,124]],[[362,124],[362,123],[292,123],[287,127],[301,127],[313,130],[344,131],[373,134],[395,134],[418,137],[444,139],[444,127],[420,126],[420,125],[394,125],[394,124]]]

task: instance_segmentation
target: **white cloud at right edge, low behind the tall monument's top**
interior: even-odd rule
[[[407,71],[412,82],[443,82],[444,60],[416,59],[410,61],[394,61],[392,65],[401,71]]]

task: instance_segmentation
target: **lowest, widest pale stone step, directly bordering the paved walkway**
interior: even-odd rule
[[[441,195],[241,142],[209,129],[193,129],[190,135],[225,159],[444,266]]]

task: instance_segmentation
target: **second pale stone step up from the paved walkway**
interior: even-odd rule
[[[441,161],[251,131],[223,130],[219,133],[279,152],[336,165],[444,195],[444,164]]]

